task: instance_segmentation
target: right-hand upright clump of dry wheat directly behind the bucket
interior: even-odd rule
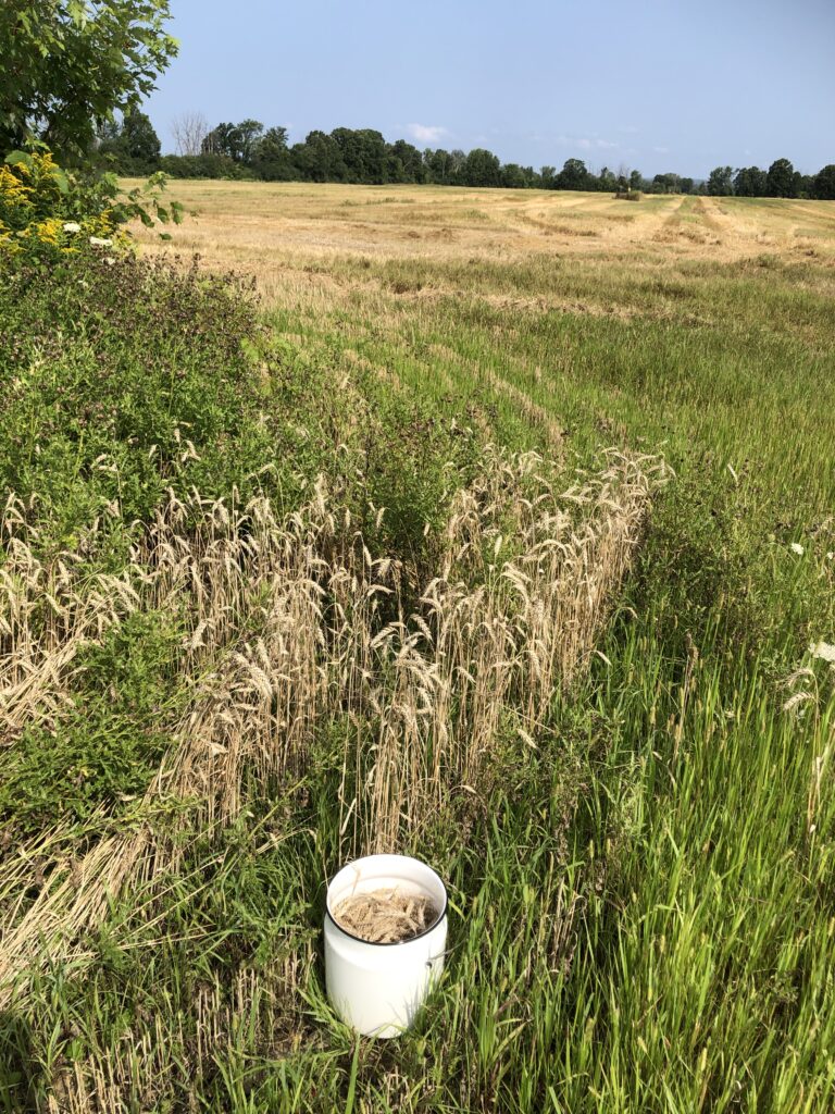
[[[348,664],[369,686],[375,741],[360,731],[346,754],[343,786],[356,788],[343,793],[343,828],[357,818],[346,852],[393,850],[452,792],[479,795],[500,739],[537,747],[557,687],[588,662],[664,466],[612,455],[559,492],[540,465],[494,455],[454,502],[421,610],[363,631]],[[500,559],[505,540],[513,554]]]

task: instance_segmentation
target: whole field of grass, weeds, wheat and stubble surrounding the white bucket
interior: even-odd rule
[[[170,193],[30,364],[3,1108],[832,1111],[835,204]],[[324,993],[375,850],[450,892],[392,1042]]]

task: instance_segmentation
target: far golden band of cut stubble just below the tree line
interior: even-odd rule
[[[131,183],[132,184],[132,183]],[[245,264],[264,281],[276,265],[328,255],[377,262],[524,262],[531,255],[639,255],[727,262],[760,251],[832,254],[835,203],[433,186],[311,186],[174,182],[197,212],[181,251]],[[140,238],[153,240],[153,233]],[[823,240],[823,243],[822,243]]]

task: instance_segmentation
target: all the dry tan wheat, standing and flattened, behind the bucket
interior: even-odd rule
[[[286,521],[263,498],[171,495],[124,577],[82,593],[82,563],[73,578],[69,557],[58,561],[61,593],[37,620],[51,574],[4,537],[7,716],[24,700],[39,714],[41,688],[21,695],[28,676],[50,686],[55,712],[56,661],[66,666],[128,607],[181,612],[186,602],[178,668],[191,697],[130,830],[78,860],[60,829],[6,857],[0,1005],[60,957],[82,965],[81,934],[112,898],[176,868],[178,828],[226,824],[249,793],[303,775],[316,733],[346,716],[344,854],[407,844],[451,794],[482,792],[494,747],[538,746],[557,687],[588,662],[665,475],[656,458],[612,453],[561,491],[536,455],[491,450],[454,500],[441,567],[415,610],[403,568],[372,557],[323,483]],[[26,530],[20,514],[7,524]],[[175,820],[154,819],[171,805]],[[36,857],[39,890],[24,899]]]

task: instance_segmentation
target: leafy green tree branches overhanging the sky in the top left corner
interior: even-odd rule
[[[177,50],[168,0],[3,0],[0,148],[32,137],[85,154],[116,109],[154,88]]]

